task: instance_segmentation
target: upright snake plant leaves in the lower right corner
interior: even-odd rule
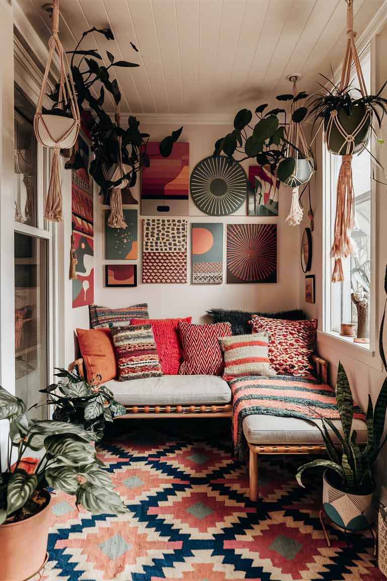
[[[385,271],[385,293],[387,296],[387,267]],[[387,299],[379,331],[379,353],[387,372],[387,361],[383,345],[383,332],[386,314]],[[308,468],[325,467],[336,472],[341,478],[344,492],[354,494],[369,493],[374,486],[374,468],[378,460],[379,453],[387,441],[384,434],[384,424],[387,409],[387,377],[385,378],[381,390],[378,394],[375,407],[372,404],[371,396],[368,394],[368,406],[366,413],[367,442],[360,444],[357,442],[357,432],[352,429],[353,420],[353,399],[350,390],[348,377],[341,363],[337,372],[336,399],[341,418],[342,433],[337,426],[328,418],[321,417],[323,427],[320,429],[323,436],[327,459],[317,459],[307,464],[303,464],[296,474],[299,485],[302,484],[302,474]],[[310,419],[310,418],[308,418]],[[338,446],[332,441],[329,430],[334,433],[338,441]]]

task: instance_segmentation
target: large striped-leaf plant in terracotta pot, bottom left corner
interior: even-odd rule
[[[9,421],[10,444],[0,474],[0,579],[15,581],[32,578],[45,562],[47,487],[72,494],[93,514],[126,512],[97,460],[92,432],[53,420],[28,422],[25,412],[23,401],[0,387],[0,420]],[[38,460],[24,458],[30,450]]]

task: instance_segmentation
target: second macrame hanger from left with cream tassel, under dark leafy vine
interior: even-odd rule
[[[115,113],[115,123],[120,127],[121,122],[121,105],[118,103],[117,112]],[[108,168],[103,167],[103,173],[106,180],[113,182],[121,180],[118,185],[109,188],[110,192],[110,214],[107,218],[107,225],[110,228],[126,228],[124,211],[122,210],[122,189],[128,186],[128,180],[124,179],[126,174],[124,163],[122,162],[122,138],[118,136],[118,163],[113,168],[113,174],[108,173]]]

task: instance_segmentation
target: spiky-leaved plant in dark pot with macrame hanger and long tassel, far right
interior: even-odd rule
[[[381,97],[386,83],[377,95],[367,95],[367,88],[357,55],[353,30],[353,0],[347,3],[347,44],[339,85],[324,77],[332,88],[324,88],[310,102],[310,114],[314,124],[321,119],[324,126],[325,144],[330,153],[342,156],[337,183],[337,206],[334,228],[334,242],[331,257],[335,260],[332,282],[343,281],[341,261],[352,254],[350,232],[355,225],[355,195],[352,183],[352,156],[367,149],[371,131],[376,134],[372,123],[377,120],[379,129],[384,114],[387,113],[387,99]],[[355,65],[359,88],[352,87],[350,77]],[[360,96],[359,96],[360,95]],[[378,139],[379,144],[383,143]],[[371,155],[378,167],[381,164]]]

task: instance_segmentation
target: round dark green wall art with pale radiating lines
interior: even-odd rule
[[[225,155],[205,157],[194,167],[191,196],[202,212],[227,216],[238,210],[247,196],[247,176],[240,163]]]

